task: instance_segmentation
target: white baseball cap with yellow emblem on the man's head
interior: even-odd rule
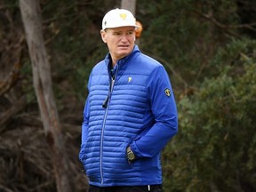
[[[102,20],[102,29],[119,28],[124,26],[132,26],[140,28],[136,25],[136,20],[132,12],[125,9],[113,9],[107,12]]]

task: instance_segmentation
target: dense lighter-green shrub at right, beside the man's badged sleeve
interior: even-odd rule
[[[172,175],[164,173],[168,190],[256,189],[255,43],[234,41],[221,49],[213,59],[220,62],[219,76],[205,78],[193,96],[180,100],[180,132],[165,150],[174,152],[164,153],[172,164],[166,162]]]

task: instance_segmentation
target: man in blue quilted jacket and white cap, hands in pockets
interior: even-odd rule
[[[102,20],[109,53],[94,68],[79,154],[89,191],[162,191],[160,151],[178,131],[164,67],[135,45],[135,18],[124,9]]]

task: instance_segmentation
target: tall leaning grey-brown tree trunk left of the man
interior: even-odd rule
[[[65,149],[60,120],[53,92],[50,63],[44,46],[41,12],[38,0],[20,0],[20,11],[26,32],[30,60],[33,68],[33,84],[44,133],[49,144],[57,190],[72,191],[68,156]]]

